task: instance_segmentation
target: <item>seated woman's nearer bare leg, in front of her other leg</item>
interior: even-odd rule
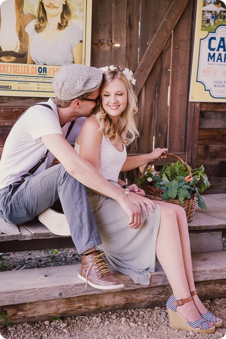
[[[156,242],[156,255],[173,290],[173,295],[177,300],[185,299],[191,293],[184,265],[177,216],[173,209],[163,205],[160,207],[161,221]],[[201,320],[200,313],[193,302],[177,307],[177,312],[189,322]]]

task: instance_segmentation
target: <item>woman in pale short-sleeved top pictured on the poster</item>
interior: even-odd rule
[[[37,19],[25,28],[29,36],[27,64],[81,64],[82,32],[71,21],[67,0],[40,0]]]

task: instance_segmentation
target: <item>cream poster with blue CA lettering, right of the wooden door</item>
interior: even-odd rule
[[[190,101],[226,102],[225,2],[197,1]]]

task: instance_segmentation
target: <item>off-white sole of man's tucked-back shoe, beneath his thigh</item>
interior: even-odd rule
[[[38,219],[53,234],[58,236],[71,236],[68,222],[63,213],[57,212],[52,208],[47,208],[47,210],[39,214]]]

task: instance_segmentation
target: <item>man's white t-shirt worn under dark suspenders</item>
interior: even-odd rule
[[[57,106],[52,98],[48,100],[48,104],[53,108],[53,111],[44,106],[32,106],[12,127],[5,141],[0,160],[0,189],[7,187],[10,183],[20,181],[21,175],[29,171],[45,155],[47,148],[41,137],[55,133],[66,137],[71,122],[61,128]],[[75,139],[84,121],[84,117],[75,120],[67,138],[70,144],[75,144]],[[49,152],[48,158],[33,175],[48,169],[53,161],[54,156]],[[27,176],[26,179],[29,177]]]

